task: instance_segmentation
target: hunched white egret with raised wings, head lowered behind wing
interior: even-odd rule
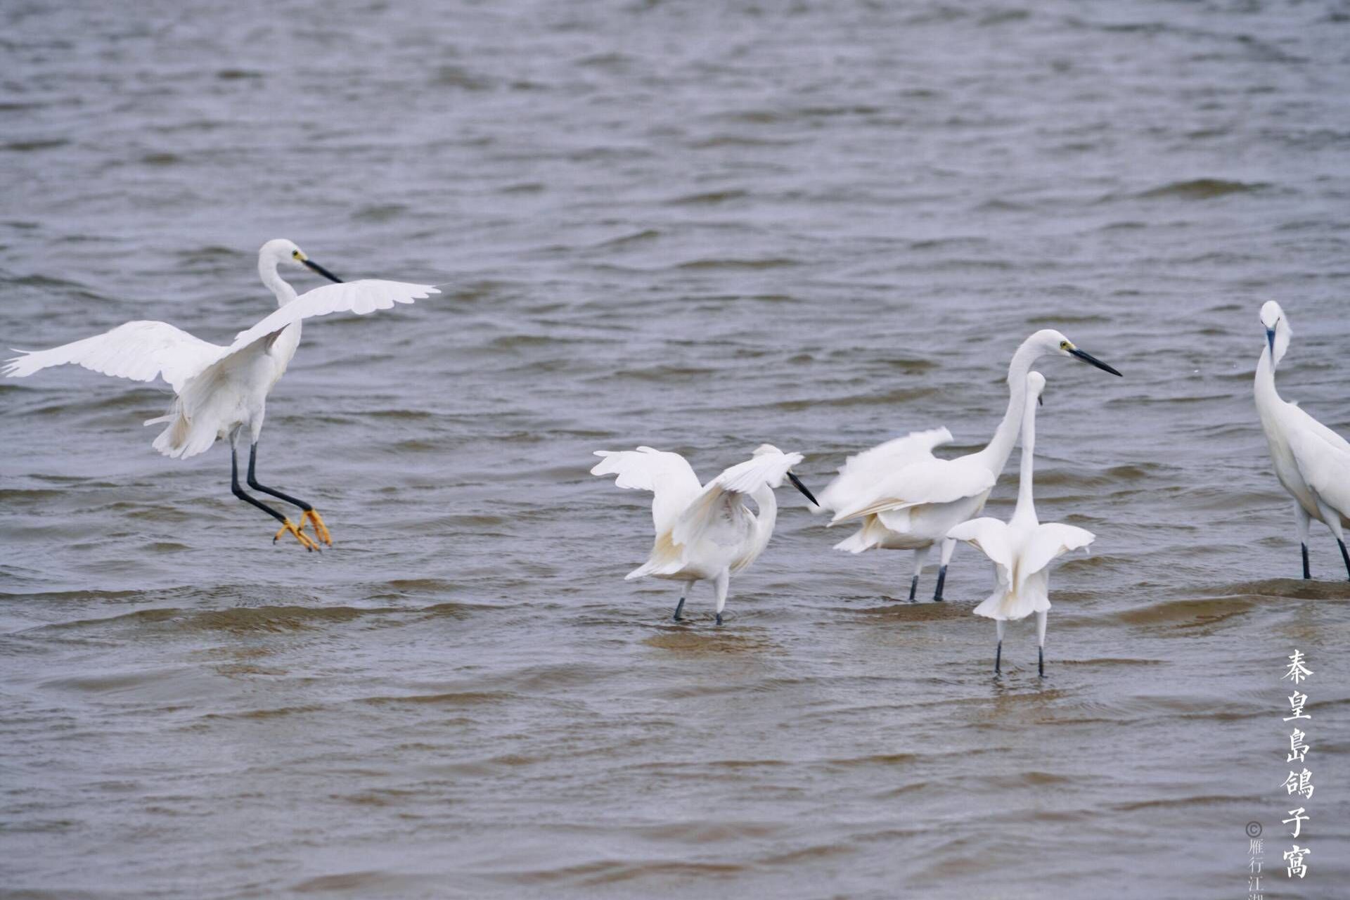
[[[651,447],[636,451],[595,451],[603,459],[591,475],[618,475],[618,487],[652,491],[652,522],[656,542],[651,556],[624,576],[633,580],[651,575],[671,582],[684,582],[675,621],[684,611],[684,598],[694,582],[711,582],[717,591],[717,623],[722,623],[726,586],[732,572],[749,567],[768,546],[778,518],[774,488],[787,478],[806,499],[815,502],[806,486],[792,474],[802,461],[801,453],[784,453],[770,444],[760,444],[744,463],[699,486],[694,470],[679,453],[663,453]],[[745,506],[749,497],[759,506],[759,515]]]

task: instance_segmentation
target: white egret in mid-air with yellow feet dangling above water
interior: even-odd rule
[[[308,267],[329,281],[300,297],[279,274],[278,266]],[[112,331],[85,337],[53,349],[15,351],[24,354],[8,360],[4,374],[14,378],[31,375],[50,366],[74,363],[104,375],[150,382],[163,378],[177,398],[169,413],[151,418],[146,425],[167,424],[154,448],[165,456],[188,459],[211,448],[216,439],[230,439],[230,488],[235,497],[263,510],[278,522],[282,534],[290,533],[308,551],[319,549],[317,541],[332,545],[332,537],[319,511],[302,499],[258,483],[258,436],[262,433],[267,394],[286,371],[286,364],[300,345],[300,322],[315,316],[352,312],[366,314],[389,309],[394,304],[439,294],[431,285],[408,285],[397,281],[343,282],[289,240],[269,240],[258,251],[258,274],[262,283],[277,296],[279,309],[247,331],[235,335],[228,347],[211,344],[167,322],[135,321]],[[238,447],[248,434],[248,486],[263,494],[292,503],[301,510],[298,526],[271,506],[250,497],[239,487]],[[315,529],[315,538],[305,534],[305,525]]]

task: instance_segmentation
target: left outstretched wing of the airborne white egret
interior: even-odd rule
[[[73,363],[136,382],[163,378],[178,391],[189,378],[220,359],[227,348],[193,337],[169,322],[135,321],[51,349],[15,352],[24,355],[7,360],[4,374],[11,378]]]

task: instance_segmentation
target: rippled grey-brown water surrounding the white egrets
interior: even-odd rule
[[[8,3],[0,61],[5,347],[227,341],[277,236],[444,285],[271,395],[323,555],[150,449],[163,386],[0,382],[0,896],[1245,897],[1250,820],[1265,896],[1346,895],[1350,590],[1250,383],[1274,298],[1350,430],[1345,4]],[[1040,366],[1041,518],[1098,534],[1046,679],[976,552],[896,603],[790,491],[724,627],[622,580],[591,451],[967,452],[1042,327],[1126,375]]]

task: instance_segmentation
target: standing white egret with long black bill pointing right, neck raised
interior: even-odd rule
[[[872,548],[914,551],[914,578],[910,580],[910,600],[914,600],[929,551],[942,541],[933,592],[933,599],[941,600],[946,565],[956,548],[948,532],[984,509],[1017,443],[1027,372],[1035,360],[1050,355],[1072,356],[1112,375],[1120,374],[1057,331],[1035,332],[1022,341],[1008,363],[1008,407],[984,449],[957,459],[938,459],[933,448],[949,443],[952,433],[936,428],[887,441],[844,463],[838,478],[821,493],[821,506],[834,511],[830,525],[861,519],[863,526],[834,549],[850,553]]]

